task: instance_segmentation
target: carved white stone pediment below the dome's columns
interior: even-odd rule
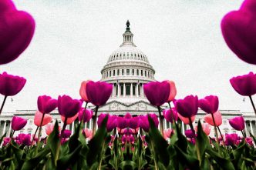
[[[116,100],[106,103],[103,107],[99,108],[99,112],[109,112],[117,114],[125,114],[130,112],[131,114],[138,113],[149,113],[149,112],[158,112],[157,107],[150,105],[150,103],[143,100],[134,102],[131,104],[125,104],[123,102],[118,102]]]

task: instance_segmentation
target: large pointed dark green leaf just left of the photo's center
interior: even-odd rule
[[[88,147],[89,152],[87,155],[87,164],[89,166],[92,166],[94,162],[97,161],[97,158],[99,155],[101,155],[102,149],[103,149],[103,143],[105,142],[105,138],[107,135],[106,132],[106,122],[108,117],[104,118],[103,123],[101,127],[97,130],[96,134],[93,136],[93,138],[89,141]]]

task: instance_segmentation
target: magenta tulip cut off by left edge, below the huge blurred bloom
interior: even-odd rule
[[[0,15],[0,18],[1,18],[1,15]],[[0,45],[0,48],[1,48],[1,45]],[[3,72],[2,75],[0,74],[0,94],[5,96],[16,95],[22,90],[22,88],[25,85],[25,82],[26,82],[25,78],[15,76],[15,75],[8,75],[6,72]]]

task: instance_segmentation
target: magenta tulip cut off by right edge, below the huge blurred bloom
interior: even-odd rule
[[[253,72],[231,78],[230,82],[234,90],[240,95],[251,96],[256,94],[256,75]]]

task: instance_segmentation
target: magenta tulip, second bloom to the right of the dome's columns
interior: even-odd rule
[[[198,98],[197,95],[188,95],[184,99],[177,100],[175,102],[175,108],[177,112],[185,118],[190,118],[197,115],[198,111]]]

